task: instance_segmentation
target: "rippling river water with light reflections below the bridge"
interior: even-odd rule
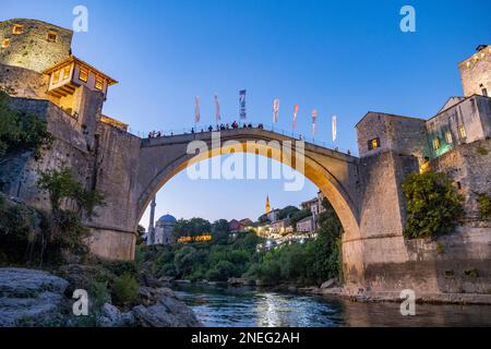
[[[179,285],[177,294],[211,327],[491,326],[490,305],[361,303],[254,288]]]

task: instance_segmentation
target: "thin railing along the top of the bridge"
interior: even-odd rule
[[[339,153],[344,153],[344,154],[348,154],[348,155],[357,155],[356,153],[354,153],[350,149],[345,149],[345,148],[340,148],[339,146],[337,146],[336,144],[334,144],[333,142],[325,142],[319,139],[314,139],[312,136],[304,136],[303,134],[301,134],[300,132],[295,132],[295,131],[285,131],[282,128],[275,128],[274,125],[271,124],[264,124],[264,123],[247,123],[247,128],[249,128],[249,125],[251,125],[251,128],[253,129],[262,129],[265,131],[270,131],[270,132],[275,132],[277,134],[283,134],[296,140],[302,140],[306,143],[310,143],[310,144],[314,144],[314,145],[319,145],[322,147],[326,147],[326,148],[331,148],[335,152],[339,152]],[[209,124],[208,125],[200,125],[196,124],[196,127],[193,128],[182,128],[182,129],[159,129],[159,130],[153,130],[151,132],[155,132],[156,134],[160,134],[160,137],[167,137],[167,136],[175,136],[175,135],[181,135],[181,134],[193,134],[193,133],[204,133],[204,132],[209,132]],[[247,129],[246,128],[246,129]],[[223,131],[219,129],[219,125],[212,125],[213,132],[215,131]],[[243,125],[238,127],[237,129],[243,129]],[[225,130],[233,130],[233,128],[231,128],[230,125],[228,127],[228,129],[226,128]],[[132,128],[128,128],[128,132],[140,137],[140,139],[148,139],[148,135],[151,132],[142,132],[142,131],[136,131]],[[155,136],[156,139],[158,139],[158,136]]]

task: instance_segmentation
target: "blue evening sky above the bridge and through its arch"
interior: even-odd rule
[[[332,145],[331,116],[338,119],[340,148],[356,152],[355,124],[369,110],[429,118],[448,96],[462,95],[457,62],[490,44],[491,1],[39,1],[1,0],[0,21],[32,17],[71,27],[72,9],[88,9],[88,32],[75,33],[73,53],[120,83],[104,112],[137,131],[193,124],[194,96],[203,123],[214,122],[213,95],[224,122],[238,119],[238,91],[248,91],[250,122]],[[399,29],[399,10],[416,9],[416,33]],[[207,219],[256,218],[266,193],[274,207],[315,195],[308,182],[285,192],[279,180],[191,181],[185,171],[157,196],[157,215]],[[147,225],[147,215],[144,225]]]

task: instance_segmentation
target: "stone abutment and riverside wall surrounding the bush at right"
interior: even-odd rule
[[[345,265],[348,288],[397,292],[408,288],[417,293],[490,291],[491,227],[479,219],[476,202],[477,192],[491,193],[491,153],[482,149],[491,151],[491,141],[462,145],[431,161],[432,169],[448,173],[459,185],[467,214],[454,233],[435,240],[403,237],[405,198],[400,183],[408,172],[417,170],[416,159],[395,153],[360,159],[366,188],[362,238],[344,242],[343,255],[350,260],[361,255],[361,265],[355,270]]]

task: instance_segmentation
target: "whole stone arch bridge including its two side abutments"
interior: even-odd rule
[[[394,164],[400,163],[397,156],[388,153],[371,161],[363,160],[258,128],[220,131],[218,143],[213,142],[213,134],[216,133],[142,140],[106,128],[97,137],[100,152],[97,154],[96,188],[105,194],[108,204],[99,207],[98,217],[88,224],[92,251],[106,258],[133,258],[137,224],[152,197],[169,179],[202,159],[244,152],[264,155],[298,169],[323,192],[345,230],[343,267],[347,282],[363,282],[367,262],[378,253],[388,251],[390,262],[407,257],[402,238],[398,179],[391,170]],[[188,146],[193,141],[207,151],[188,154]],[[284,149],[278,153],[274,146],[288,143],[292,145],[291,157],[286,156],[290,153]],[[376,202],[383,202],[385,209],[372,208]]]

